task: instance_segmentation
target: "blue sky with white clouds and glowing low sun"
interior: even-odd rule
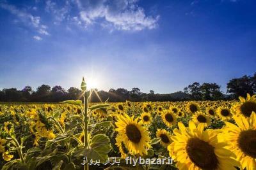
[[[0,89],[169,93],[256,69],[256,1],[0,0]]]

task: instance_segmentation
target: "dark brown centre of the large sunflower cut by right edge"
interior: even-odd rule
[[[246,155],[256,158],[256,130],[247,130],[239,134],[238,146]]]

